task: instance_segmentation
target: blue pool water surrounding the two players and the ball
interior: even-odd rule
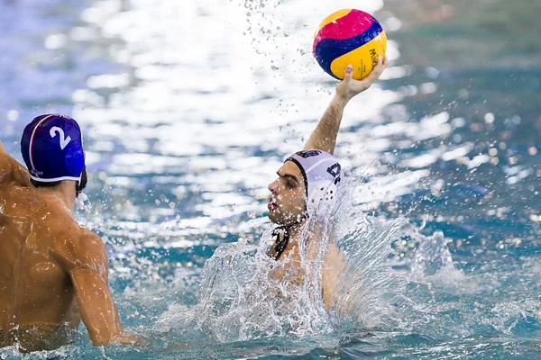
[[[78,219],[105,241],[124,327],[154,342],[91,347],[81,326],[74,345],[28,358],[541,356],[533,0],[367,4],[391,66],[348,105],[336,150],[361,326],[316,317],[316,302],[245,321],[268,302],[240,291],[271,288],[246,281],[271,229],[266,186],[334,91],[311,36],[351,3],[327,3],[0,3],[0,139],[20,159],[37,114],[81,122],[93,209]]]

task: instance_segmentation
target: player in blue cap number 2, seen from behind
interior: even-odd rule
[[[81,319],[94,345],[137,345],[109,293],[104,243],[75,220],[87,184],[78,123],[38,116],[21,150],[28,170],[0,142],[0,347],[60,347]]]

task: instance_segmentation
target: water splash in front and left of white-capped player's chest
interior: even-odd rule
[[[181,338],[193,340],[195,334],[188,329],[198,329],[205,340],[218,342],[331,332],[309,276],[302,284],[290,284],[288,276],[279,275],[284,267],[267,256],[266,247],[242,243],[218,247],[203,269],[197,305],[172,305],[157,322],[158,329],[168,331],[182,324],[177,332]]]

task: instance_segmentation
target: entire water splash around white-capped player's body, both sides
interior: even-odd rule
[[[387,258],[404,220],[364,215],[350,201],[352,193],[350,183],[334,209],[307,221],[296,270],[287,266],[287,259],[277,262],[267,256],[271,229],[259,244],[218,247],[203,269],[197,305],[171,305],[156,330],[177,339],[232,342],[390,326],[391,302],[404,281],[390,270]],[[314,234],[317,241],[311,240]],[[327,311],[322,273],[332,243],[344,252],[345,266],[335,285],[335,302]]]

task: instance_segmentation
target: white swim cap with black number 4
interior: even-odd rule
[[[294,162],[304,178],[307,212],[313,213],[321,203],[336,200],[338,184],[344,179],[342,167],[335,157],[323,150],[298,151],[286,159]]]

